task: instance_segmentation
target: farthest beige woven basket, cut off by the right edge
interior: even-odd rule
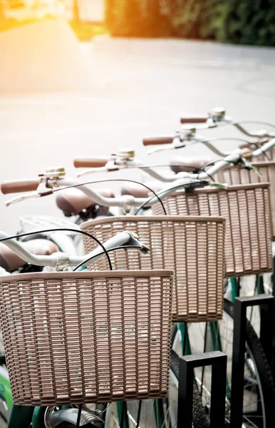
[[[246,170],[239,166],[230,166],[220,171],[215,179],[219,183],[248,184],[248,183],[270,183],[272,234],[275,240],[275,161],[253,162],[252,165],[259,170],[258,175],[254,170]]]

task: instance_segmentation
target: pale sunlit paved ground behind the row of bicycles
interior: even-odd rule
[[[98,85],[90,93],[0,97],[0,180],[32,177],[49,165],[65,165],[72,174],[73,156],[105,155],[119,146],[133,147],[148,160],[142,136],[177,130],[183,112],[222,105],[234,118],[275,123],[274,49],[104,38],[82,48]],[[227,128],[207,135],[237,133]],[[198,152],[206,149],[185,153]],[[167,154],[153,161],[167,161]],[[18,229],[19,215],[61,215],[52,197],[9,209],[4,199],[1,228],[10,232]]]

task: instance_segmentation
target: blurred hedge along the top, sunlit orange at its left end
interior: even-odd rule
[[[105,0],[110,34],[275,46],[275,0]]]

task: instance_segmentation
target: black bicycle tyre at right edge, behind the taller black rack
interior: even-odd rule
[[[234,319],[234,304],[226,299],[224,299],[224,312]],[[259,382],[261,384],[261,406],[264,406],[263,412],[265,417],[264,427],[274,427],[275,389],[271,367],[266,360],[259,337],[256,335],[249,320],[247,320],[246,341],[249,353],[254,359]]]

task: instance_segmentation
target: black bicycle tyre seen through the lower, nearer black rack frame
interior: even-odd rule
[[[179,380],[179,356],[175,351],[171,350],[170,359],[170,370]],[[209,422],[207,414],[205,413],[202,405],[202,398],[199,394],[196,384],[193,383],[193,407],[192,407],[192,419],[194,428],[209,428]]]

